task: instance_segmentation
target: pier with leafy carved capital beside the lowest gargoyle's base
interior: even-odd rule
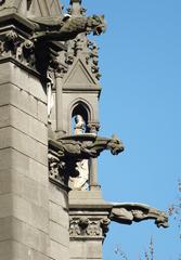
[[[79,211],[70,208],[69,216],[70,259],[102,259],[102,244],[111,222],[108,210],[82,206]]]

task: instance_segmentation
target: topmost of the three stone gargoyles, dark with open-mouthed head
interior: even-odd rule
[[[66,41],[81,32],[101,35],[106,29],[104,15],[89,17],[39,17],[29,18],[34,23],[33,40]]]

